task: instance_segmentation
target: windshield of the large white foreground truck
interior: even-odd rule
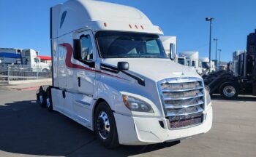
[[[157,35],[100,31],[96,39],[103,58],[167,58]]]

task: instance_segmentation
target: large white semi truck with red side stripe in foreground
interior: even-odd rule
[[[161,35],[133,7],[73,0],[50,8],[53,84],[39,88],[39,104],[93,130],[107,148],[208,132],[203,79],[167,57]]]

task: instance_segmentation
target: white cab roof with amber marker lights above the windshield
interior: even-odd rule
[[[82,28],[163,34],[134,7],[92,0],[69,0],[51,8],[51,39]]]

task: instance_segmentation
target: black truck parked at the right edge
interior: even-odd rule
[[[256,95],[256,31],[247,36],[246,51],[233,52],[233,61],[227,71],[217,71],[204,78],[210,93],[219,93],[226,99],[238,94]]]

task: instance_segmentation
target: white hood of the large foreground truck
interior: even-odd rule
[[[128,62],[129,71],[154,81],[173,77],[198,77],[195,70],[184,65],[162,58],[111,58],[104,59],[102,63],[117,66],[118,62]]]

